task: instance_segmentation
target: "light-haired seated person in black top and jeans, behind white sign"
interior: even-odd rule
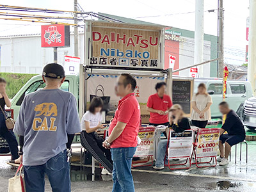
[[[188,118],[184,117],[184,112],[179,104],[174,104],[170,109],[172,113],[172,118],[170,120],[171,127],[175,132],[183,132],[186,129],[190,129],[190,124]],[[168,131],[166,131],[168,134]],[[158,143],[156,164],[153,166],[154,169],[162,170],[164,169],[164,157],[166,154],[168,138],[166,140],[161,140]]]

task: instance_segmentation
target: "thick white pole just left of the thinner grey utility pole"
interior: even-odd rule
[[[204,61],[204,0],[196,0],[195,7],[195,52],[194,64]],[[204,66],[198,67],[199,77],[204,75]]]

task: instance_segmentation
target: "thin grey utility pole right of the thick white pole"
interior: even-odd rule
[[[218,77],[223,77],[224,68],[224,48],[223,48],[223,20],[224,20],[224,10],[223,10],[223,0],[218,1]]]

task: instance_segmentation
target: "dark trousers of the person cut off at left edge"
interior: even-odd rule
[[[19,158],[18,143],[13,131],[7,129],[5,125],[4,114],[2,113],[2,111],[0,111],[0,135],[7,141],[9,145],[10,152],[12,155],[12,160],[18,159]]]

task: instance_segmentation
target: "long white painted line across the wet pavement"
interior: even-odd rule
[[[217,175],[200,175],[193,173],[175,173],[175,172],[161,172],[161,171],[152,171],[152,170],[136,170],[132,169],[132,172],[141,172],[141,173],[155,173],[155,174],[163,174],[163,175],[180,175],[180,176],[190,176],[190,177],[205,177],[205,178],[214,178],[214,179],[224,179],[224,180],[242,180],[248,182],[255,182],[253,179],[242,179],[237,177],[222,177]]]

